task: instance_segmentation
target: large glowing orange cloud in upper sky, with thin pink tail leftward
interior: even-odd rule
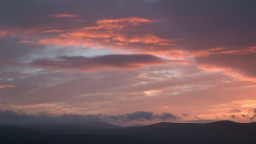
[[[149,20],[141,17],[98,20],[96,21],[97,26],[69,29],[65,31],[56,29],[44,31],[43,33],[59,34],[56,34],[51,38],[37,40],[37,44],[62,46],[94,45],[96,47],[100,46],[107,49],[117,46],[118,49],[123,49],[124,45],[130,44],[153,44],[160,46],[172,45],[175,40],[157,37],[150,31],[139,32],[139,29],[136,28],[142,23],[151,23],[156,21],[159,20]],[[32,40],[22,40],[22,42],[26,42],[26,44],[28,44],[30,41],[32,44],[36,44]],[[92,41],[94,44],[92,44]],[[133,46],[132,49],[136,49],[136,47]]]

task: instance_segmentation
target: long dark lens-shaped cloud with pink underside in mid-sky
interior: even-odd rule
[[[94,71],[109,68],[139,69],[146,65],[178,64],[182,61],[167,60],[153,55],[104,55],[96,57],[62,56],[55,59],[38,59],[28,63],[31,67],[44,69],[78,69],[80,71]]]

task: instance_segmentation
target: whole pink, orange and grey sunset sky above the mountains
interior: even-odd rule
[[[1,1],[0,115],[256,121],[255,4]]]

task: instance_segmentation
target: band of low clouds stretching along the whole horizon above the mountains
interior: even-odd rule
[[[256,109],[249,111],[251,115],[231,115],[232,119],[248,118],[250,121],[256,119]],[[98,122],[106,122],[112,124],[134,124],[137,122],[171,122],[184,121],[193,123],[209,123],[220,121],[220,119],[202,119],[197,116],[191,116],[187,113],[181,115],[174,115],[172,113],[153,113],[149,111],[135,111],[132,113],[125,113],[123,115],[76,115],[72,113],[64,113],[56,116],[48,112],[39,112],[33,115],[22,111],[15,110],[0,110],[0,125],[92,125]]]

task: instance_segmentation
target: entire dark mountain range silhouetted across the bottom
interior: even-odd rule
[[[156,123],[126,128],[101,125],[0,126],[0,143],[256,143],[256,122]]]

